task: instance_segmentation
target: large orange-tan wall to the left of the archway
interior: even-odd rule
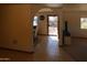
[[[1,47],[31,52],[33,34],[30,4],[1,4]]]

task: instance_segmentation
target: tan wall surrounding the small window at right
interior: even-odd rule
[[[87,18],[86,11],[65,12],[65,20],[68,21],[68,28],[72,36],[87,37],[87,30],[80,29],[80,18]]]

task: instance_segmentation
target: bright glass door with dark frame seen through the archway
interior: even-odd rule
[[[53,36],[58,36],[58,17],[57,15],[47,15],[47,34]]]

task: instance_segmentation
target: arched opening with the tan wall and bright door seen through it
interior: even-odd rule
[[[36,21],[34,19],[36,19]],[[36,25],[34,26],[34,29],[35,29],[34,36],[36,39],[37,39],[37,35],[47,35],[47,36],[51,35],[51,36],[48,36],[51,40],[58,41],[58,26],[57,26],[58,25],[58,15],[53,9],[50,9],[50,8],[40,9],[33,18],[33,23],[35,23],[35,22],[36,22]],[[54,22],[56,22],[56,23],[54,23]],[[52,24],[52,26],[50,25],[50,23]],[[55,25],[56,25],[56,29],[54,28]],[[53,35],[55,35],[55,36],[53,36]],[[34,40],[36,40],[36,39],[34,39]]]

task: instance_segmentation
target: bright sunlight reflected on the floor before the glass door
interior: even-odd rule
[[[48,53],[48,56],[53,56],[53,57],[56,56],[56,53],[58,53],[57,36],[48,36],[47,53]]]

